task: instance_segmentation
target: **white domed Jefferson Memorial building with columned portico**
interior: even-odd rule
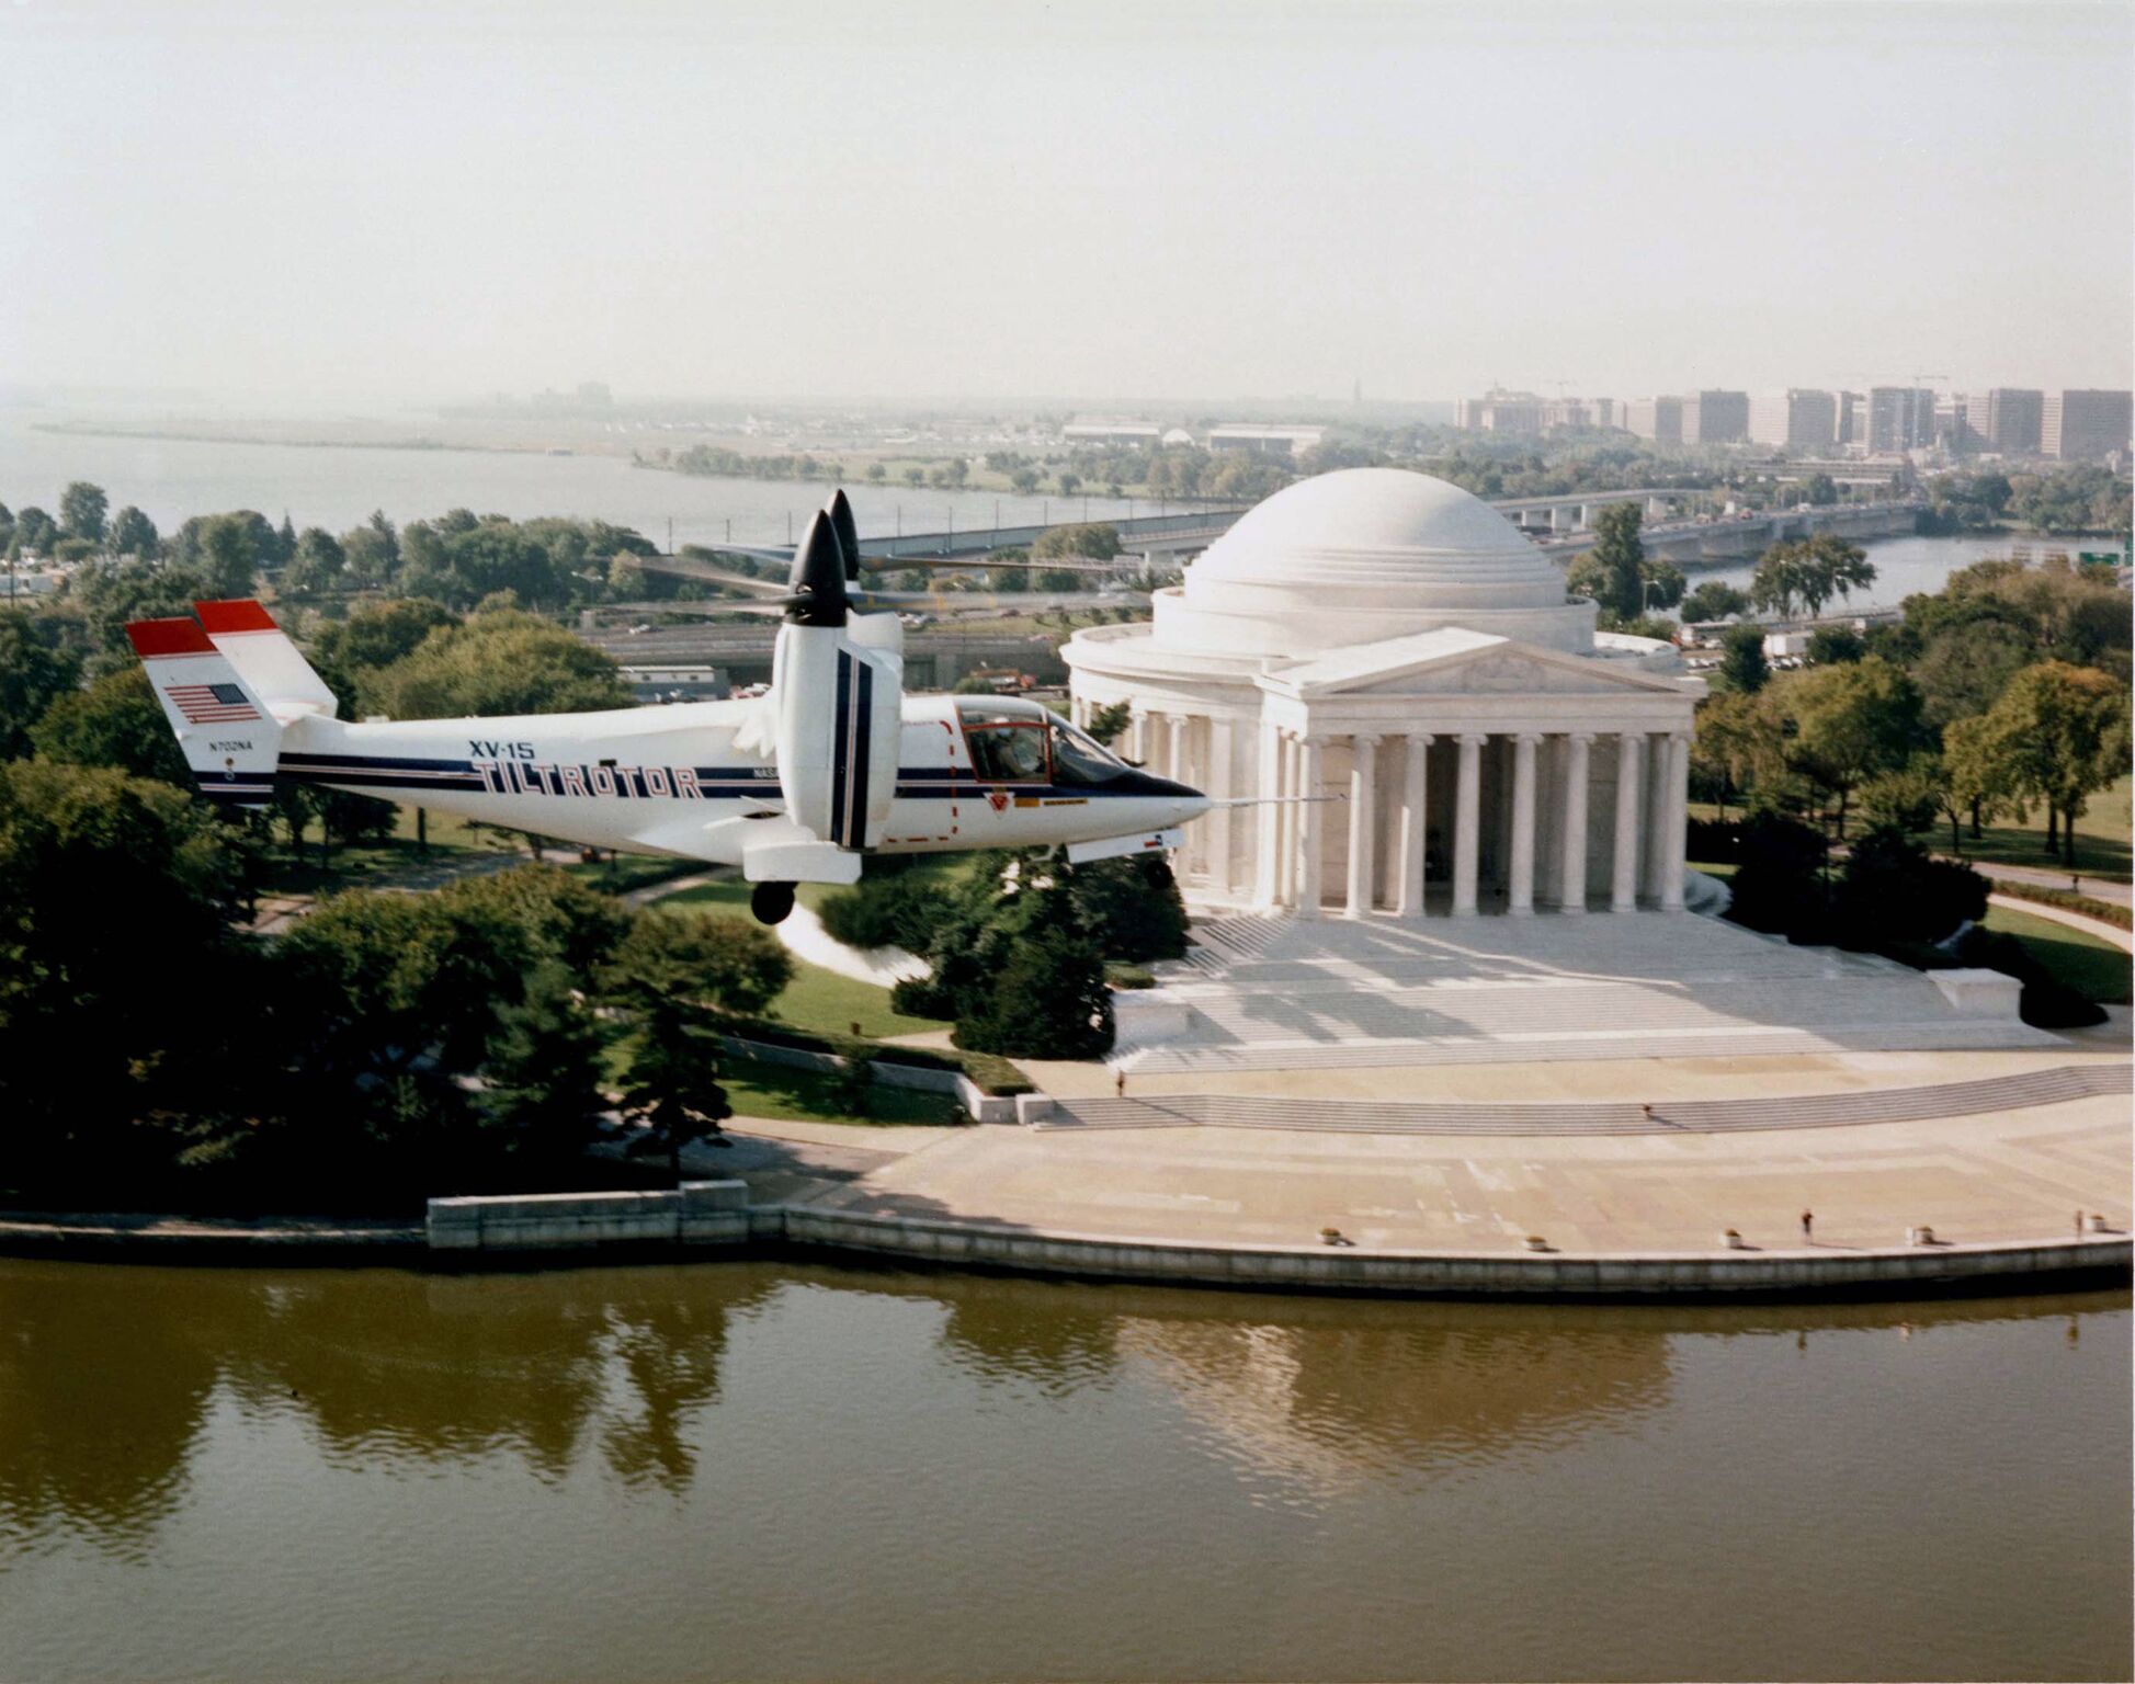
[[[1691,713],[1674,647],[1595,604],[1494,508],[1354,467],[1268,497],[1065,647],[1078,721],[1211,796],[1181,886],[1206,905],[1369,918],[1680,911]]]

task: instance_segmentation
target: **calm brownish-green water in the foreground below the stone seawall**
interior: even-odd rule
[[[2126,1678],[2126,1293],[0,1264],[0,1675]]]

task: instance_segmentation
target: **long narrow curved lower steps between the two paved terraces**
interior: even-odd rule
[[[1648,1116],[1633,1103],[1411,1103],[1262,1099],[1183,1093],[1155,1099],[1059,1099],[1038,1129],[1317,1129],[1428,1135],[1652,1135],[1738,1129],[1832,1129],[2033,1110],[2135,1091],[2135,1065],[2054,1065],[1977,1082],[1810,1093],[1772,1099],[1674,1099]]]

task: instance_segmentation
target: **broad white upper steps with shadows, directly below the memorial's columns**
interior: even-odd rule
[[[1921,971],[1689,914],[1221,918],[1121,1001],[1132,1071],[2052,1048]]]

